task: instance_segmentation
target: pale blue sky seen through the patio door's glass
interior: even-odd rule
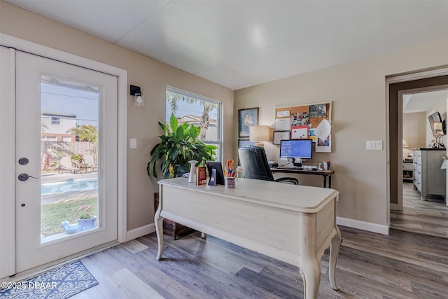
[[[73,88],[41,83],[41,109],[76,115],[76,125],[98,127],[99,95]]]

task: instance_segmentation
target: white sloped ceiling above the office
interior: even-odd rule
[[[4,0],[232,90],[448,37],[448,1]]]

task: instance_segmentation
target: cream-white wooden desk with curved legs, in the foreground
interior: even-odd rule
[[[305,298],[317,298],[321,258],[330,247],[328,276],[337,290],[335,270],[341,239],[336,225],[336,190],[254,179],[238,179],[233,189],[197,186],[186,178],[158,183],[160,204],[154,217],[158,260],[163,254],[166,217],[300,267]]]

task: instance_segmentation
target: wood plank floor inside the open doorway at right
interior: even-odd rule
[[[420,199],[411,182],[403,182],[403,210],[391,211],[391,228],[448,238],[448,207],[443,197]]]

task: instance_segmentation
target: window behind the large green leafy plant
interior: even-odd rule
[[[169,124],[174,113],[179,124],[193,123],[201,127],[198,139],[216,146],[216,159],[221,160],[221,102],[171,87],[167,87],[166,101],[165,122]]]

